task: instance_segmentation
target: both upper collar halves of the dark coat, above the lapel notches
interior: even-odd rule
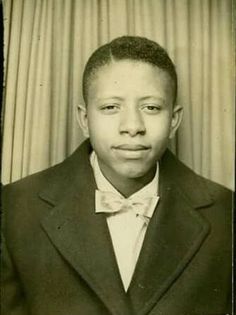
[[[77,194],[80,188],[86,190],[91,183],[95,187],[89,161],[91,151],[90,142],[86,140],[69,158],[54,167],[48,185],[40,192],[40,197],[56,205],[67,194]],[[162,184],[164,179],[167,186],[174,185],[186,202],[197,209],[212,204],[214,200],[202,178],[194,175],[191,169],[166,150],[160,161],[160,183]]]

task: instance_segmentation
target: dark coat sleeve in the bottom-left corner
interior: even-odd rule
[[[8,252],[1,240],[1,315],[29,315],[24,292]]]

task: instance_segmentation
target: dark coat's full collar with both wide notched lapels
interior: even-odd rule
[[[202,180],[167,151],[160,162],[160,202],[125,294],[105,216],[94,212],[90,152],[86,141],[52,170],[40,193],[53,205],[42,226],[112,314],[132,314],[132,308],[135,314],[146,314],[200,248],[209,225],[196,208],[213,201]]]

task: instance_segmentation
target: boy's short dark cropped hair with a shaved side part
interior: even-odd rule
[[[142,61],[166,71],[174,83],[174,103],[177,97],[177,74],[175,65],[158,43],[139,36],[122,36],[99,47],[88,59],[83,73],[83,98],[87,103],[90,78],[98,68],[113,60],[130,59]]]

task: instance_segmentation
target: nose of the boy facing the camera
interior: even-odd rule
[[[144,135],[146,132],[142,113],[139,109],[124,111],[120,117],[120,133],[129,134],[134,137],[138,134]]]

